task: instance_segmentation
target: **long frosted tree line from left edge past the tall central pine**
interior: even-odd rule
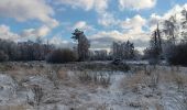
[[[37,38],[35,42],[15,43],[9,40],[0,40],[0,62],[6,61],[46,61],[48,63],[67,63],[85,61],[111,61],[113,58],[133,58],[134,46],[130,41],[113,42],[112,52],[106,50],[90,51],[90,42],[85,33],[75,30],[72,38],[77,42],[74,48],[56,48],[55,45],[42,43]]]

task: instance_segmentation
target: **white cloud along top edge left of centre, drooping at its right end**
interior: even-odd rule
[[[74,9],[80,8],[85,11],[95,10],[98,13],[98,23],[108,26],[113,23],[113,16],[107,12],[109,0],[57,0],[58,4],[70,6]]]

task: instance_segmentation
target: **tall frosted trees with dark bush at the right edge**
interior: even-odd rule
[[[177,15],[182,16],[177,19]],[[162,59],[172,65],[187,65],[187,10],[169,19],[160,21],[163,29],[157,28],[152,32],[150,47],[144,55],[152,64]]]

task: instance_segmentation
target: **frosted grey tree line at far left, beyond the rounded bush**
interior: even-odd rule
[[[45,55],[54,50],[53,45],[36,41],[15,43],[0,40],[0,61],[44,61]]]

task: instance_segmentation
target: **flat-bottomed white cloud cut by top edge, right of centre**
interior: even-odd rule
[[[120,10],[151,9],[156,4],[156,0],[119,0]]]

